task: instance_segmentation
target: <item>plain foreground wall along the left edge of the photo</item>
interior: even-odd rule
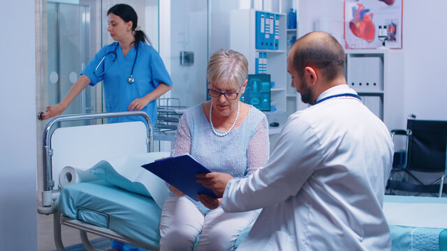
[[[34,0],[2,9],[0,250],[37,250]]]

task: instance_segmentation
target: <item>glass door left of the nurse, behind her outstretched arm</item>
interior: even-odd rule
[[[90,58],[90,8],[84,4],[47,3],[47,103],[57,104],[80,77]],[[95,111],[95,89],[86,88],[64,114]],[[88,123],[87,121],[82,124]],[[73,124],[73,123],[72,123]]]

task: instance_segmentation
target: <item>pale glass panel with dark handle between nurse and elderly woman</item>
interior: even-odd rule
[[[170,57],[165,62],[174,82],[170,98],[186,107],[206,100],[207,5],[207,0],[170,1]]]

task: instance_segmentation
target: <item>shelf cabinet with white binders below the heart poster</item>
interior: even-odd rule
[[[403,66],[400,50],[346,50],[346,83],[389,130],[403,128]]]

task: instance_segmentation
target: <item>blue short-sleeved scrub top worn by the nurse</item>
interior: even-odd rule
[[[117,59],[112,63],[112,54],[116,50]],[[94,71],[98,63],[105,57],[103,63],[105,68],[110,65],[105,73],[101,76],[95,75]],[[103,47],[93,59],[82,70],[81,75],[86,75],[91,79],[91,86],[94,86],[101,80],[104,81],[104,99],[105,110],[107,112],[125,112],[127,107],[135,98],[142,98],[147,93],[154,91],[159,84],[173,84],[169,77],[168,71],[161,60],[160,55],[150,45],[140,42],[138,44],[138,57],[133,68],[133,77],[135,82],[129,84],[127,79],[131,76],[133,61],[135,60],[136,47],[124,57],[121,46],[118,42]],[[110,64],[111,63],[111,64]],[[149,115],[153,128],[156,125],[156,100],[152,100],[142,109]],[[140,116],[134,117],[118,117],[108,119],[108,123],[117,123],[125,121],[145,121]]]

